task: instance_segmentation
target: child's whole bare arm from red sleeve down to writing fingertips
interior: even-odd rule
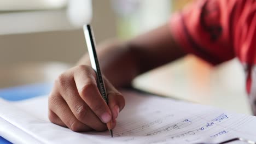
[[[104,82],[109,105],[98,91],[96,74],[88,66],[86,54],[78,66],[56,79],[49,97],[49,119],[73,131],[106,130],[106,123],[112,119],[114,128],[115,119],[125,106],[123,95],[115,87],[129,85],[135,76],[184,55],[168,25],[123,43],[110,41],[99,45],[101,69],[108,78]]]

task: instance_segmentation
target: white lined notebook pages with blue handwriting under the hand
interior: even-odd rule
[[[256,117],[154,95],[123,91],[126,106],[114,137],[75,133],[48,120],[48,98],[0,100],[0,135],[14,143],[216,143],[234,137],[256,141]]]

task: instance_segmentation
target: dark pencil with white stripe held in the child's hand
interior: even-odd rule
[[[96,53],[96,49],[95,49],[96,44],[95,44],[95,40],[94,40],[94,33],[93,33],[90,25],[84,25],[83,29],[84,29],[84,36],[85,36],[86,44],[88,47],[91,67],[92,67],[92,69],[95,70],[96,75],[97,75],[98,89],[102,95],[102,98],[108,104],[107,92],[106,92],[106,88],[104,85],[104,81],[102,79],[100,64],[98,63],[97,53]],[[112,120],[107,123],[107,127],[108,127],[111,137],[113,137]]]

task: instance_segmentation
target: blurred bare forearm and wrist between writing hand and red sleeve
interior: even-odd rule
[[[168,25],[125,42],[110,41],[97,47],[103,74],[115,87],[127,86],[137,75],[185,55]],[[89,56],[79,64],[90,65]]]

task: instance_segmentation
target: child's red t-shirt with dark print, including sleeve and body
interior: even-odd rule
[[[196,1],[172,16],[170,28],[185,51],[207,62],[240,59],[256,115],[256,0]]]

